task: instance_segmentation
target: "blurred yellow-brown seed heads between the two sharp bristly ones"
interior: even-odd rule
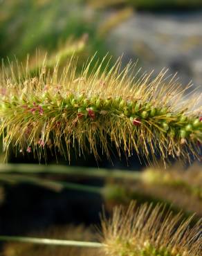
[[[153,201],[167,203],[172,210],[183,210],[187,215],[196,213],[202,216],[202,170],[193,165],[188,170],[172,167],[170,170],[148,168],[140,173],[138,179],[107,179],[104,189],[107,208],[111,210],[117,203],[129,203],[131,199],[138,203]]]

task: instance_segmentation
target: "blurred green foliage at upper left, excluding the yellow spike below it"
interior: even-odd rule
[[[80,38],[87,33],[89,51],[99,48],[94,12],[82,1],[1,1],[0,57],[23,60],[36,48],[55,51],[68,37]],[[60,43],[61,44],[61,43]]]

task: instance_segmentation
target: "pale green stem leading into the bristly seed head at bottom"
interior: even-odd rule
[[[0,241],[19,241],[23,243],[31,244],[47,244],[48,246],[80,246],[80,247],[92,247],[100,248],[102,244],[93,241],[73,241],[73,240],[60,240],[60,239],[48,239],[48,238],[36,238],[36,237],[11,237],[2,235]]]

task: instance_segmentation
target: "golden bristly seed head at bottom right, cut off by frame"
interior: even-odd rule
[[[182,220],[165,212],[163,205],[141,205],[131,202],[125,210],[117,207],[111,219],[102,219],[102,243],[106,256],[199,256],[201,255],[201,221],[190,228]]]

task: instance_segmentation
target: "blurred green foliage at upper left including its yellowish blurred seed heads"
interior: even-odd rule
[[[33,72],[45,53],[50,66],[58,59],[65,62],[74,52],[82,55],[82,62],[95,52],[104,57],[108,51],[104,35],[131,14],[132,9],[125,8],[103,19],[100,11],[83,0],[0,1],[0,59],[17,57],[26,62],[27,55],[35,60],[37,51],[41,63]]]

